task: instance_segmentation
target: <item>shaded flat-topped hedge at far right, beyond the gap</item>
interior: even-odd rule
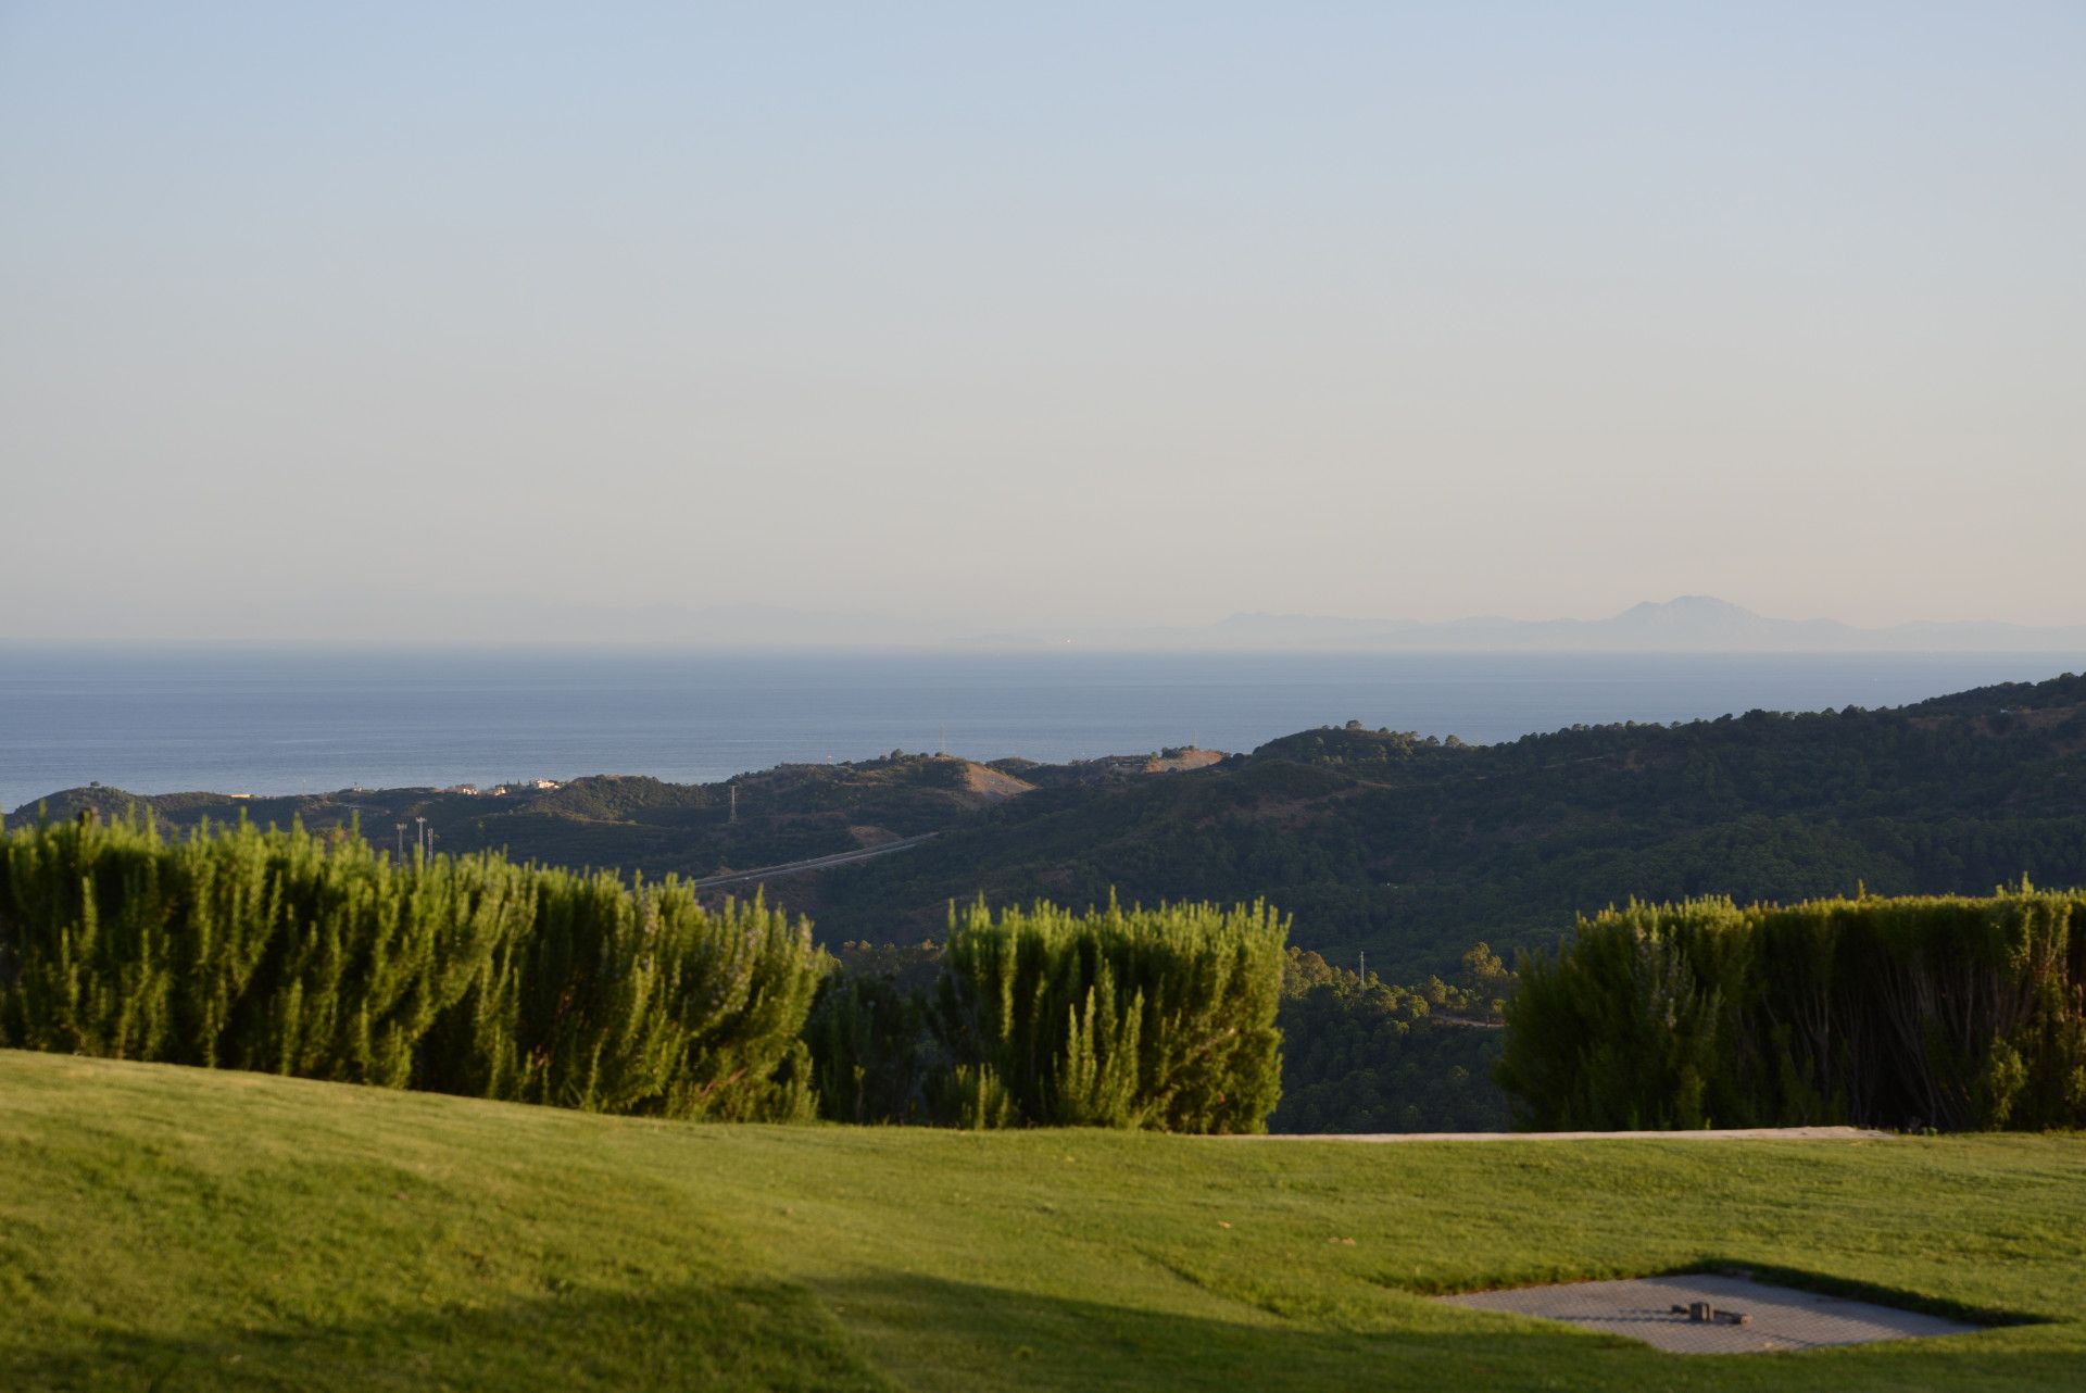
[[[2086,1126],[2086,895],[1631,903],[1506,1020],[1535,1128]]]

